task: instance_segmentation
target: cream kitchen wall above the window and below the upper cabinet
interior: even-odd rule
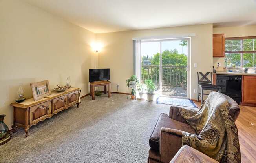
[[[226,37],[246,37],[256,36],[256,25],[238,26],[238,27],[222,27],[214,28],[213,34],[225,33]],[[214,57],[213,65],[217,66],[217,63],[221,63],[221,67],[217,71],[223,71],[224,57]]]

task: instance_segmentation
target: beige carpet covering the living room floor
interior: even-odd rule
[[[146,163],[148,139],[170,105],[106,94],[82,99],[0,146],[1,163]]]

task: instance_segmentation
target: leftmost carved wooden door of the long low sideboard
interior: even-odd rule
[[[30,108],[30,125],[51,115],[51,100]]]

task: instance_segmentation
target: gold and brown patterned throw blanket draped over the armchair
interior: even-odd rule
[[[182,144],[189,145],[222,163],[240,163],[238,129],[229,114],[226,98],[211,92],[198,112],[179,109],[196,134],[182,132]]]

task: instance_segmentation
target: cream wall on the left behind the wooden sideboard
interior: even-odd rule
[[[80,87],[88,93],[88,69],[95,34],[65,22],[18,0],[0,1],[0,114],[6,114],[10,127],[18,85],[23,84],[26,98],[32,97],[29,83],[49,80]]]

